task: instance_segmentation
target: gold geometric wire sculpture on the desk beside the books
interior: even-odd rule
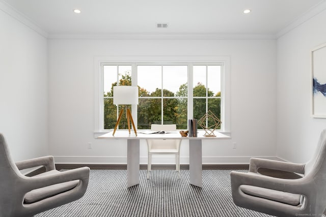
[[[211,124],[208,127],[206,127],[206,120],[208,124]],[[214,131],[221,126],[221,123],[222,121],[210,110],[208,110],[208,112],[206,112],[198,121],[198,125],[205,130],[204,136],[206,137],[215,137]]]

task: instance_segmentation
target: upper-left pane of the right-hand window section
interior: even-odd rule
[[[206,97],[206,66],[193,67],[194,97]]]

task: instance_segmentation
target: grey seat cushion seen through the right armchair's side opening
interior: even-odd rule
[[[271,189],[264,189],[252,185],[240,185],[240,190],[247,195],[254,197],[260,197],[268,200],[277,201],[280,203],[289,204],[292,206],[297,206],[300,204],[301,195],[292,194],[287,192],[281,192]]]

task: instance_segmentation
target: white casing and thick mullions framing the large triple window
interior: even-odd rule
[[[94,137],[110,132],[104,130],[103,119],[103,72],[102,66],[131,65],[131,84],[137,85],[137,65],[187,65],[188,99],[193,99],[193,66],[221,65],[221,133],[230,135],[230,57],[229,56],[96,56],[94,57]],[[132,116],[137,120],[137,105],[132,105]],[[188,100],[188,119],[193,114],[193,101]],[[137,121],[136,121],[137,122]],[[136,123],[137,128],[137,123]]]

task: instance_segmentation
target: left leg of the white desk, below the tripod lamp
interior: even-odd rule
[[[127,188],[139,184],[139,139],[127,140]]]

